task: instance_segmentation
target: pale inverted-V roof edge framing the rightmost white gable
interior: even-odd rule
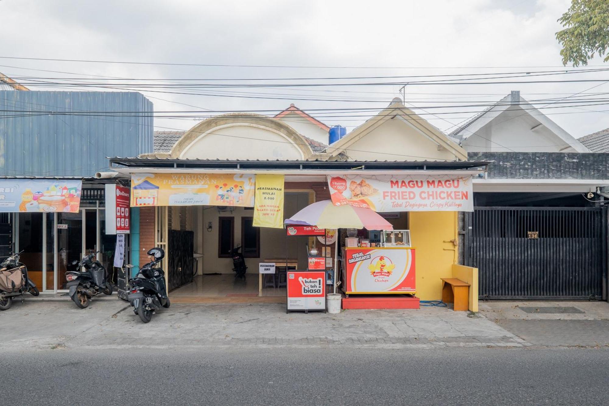
[[[519,91],[512,91],[511,94],[505,96],[494,105],[488,106],[483,111],[474,115],[470,120],[463,123],[457,129],[448,134],[449,137],[459,140],[459,143],[463,143],[463,140],[476,134],[482,127],[490,123],[499,114],[509,109],[512,106],[518,106],[523,109],[524,113],[537,120],[541,125],[552,131],[558,138],[565,142],[565,145],[570,145],[577,152],[590,152],[586,146],[575,139],[571,134],[562,129],[557,123],[550,120],[545,114],[531,105],[527,100],[521,97]],[[523,114],[523,115],[525,115]]]

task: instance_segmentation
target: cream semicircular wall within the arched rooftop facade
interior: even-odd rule
[[[180,154],[187,159],[303,159],[287,137],[262,126],[227,125],[202,134]]]

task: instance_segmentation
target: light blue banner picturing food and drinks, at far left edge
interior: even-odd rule
[[[82,181],[0,179],[0,212],[78,213]]]

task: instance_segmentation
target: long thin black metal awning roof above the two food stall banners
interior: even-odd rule
[[[208,169],[208,170],[485,170],[490,161],[328,161],[328,160],[223,160],[174,158],[110,159],[111,169]]]

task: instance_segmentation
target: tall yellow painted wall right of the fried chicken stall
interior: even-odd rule
[[[457,239],[456,212],[410,212],[410,239],[415,247],[417,297],[441,300],[442,281],[452,278],[457,251],[451,239]],[[447,241],[447,242],[445,242]]]

